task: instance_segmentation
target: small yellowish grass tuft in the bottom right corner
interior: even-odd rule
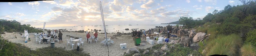
[[[256,56],[256,50],[251,44],[244,44],[240,52],[242,56]]]

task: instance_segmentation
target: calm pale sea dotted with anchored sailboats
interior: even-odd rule
[[[168,24],[144,24],[144,25],[132,25],[132,26],[129,26],[129,25],[108,25],[106,26],[106,32],[108,33],[116,33],[116,32],[124,32],[124,33],[128,33],[128,32],[132,32],[131,29],[136,29],[138,28],[138,30],[140,29],[151,29],[151,28],[155,28],[155,26],[167,26]],[[175,24],[170,24],[170,25],[173,25],[175,26]],[[130,30],[124,30],[124,29],[130,29]],[[97,27],[94,27],[94,26],[78,26],[78,27],[74,27],[74,26],[68,26],[68,27],[45,27],[45,29],[67,29],[68,31],[79,31],[79,30],[88,30],[88,31],[91,31],[91,29],[97,29],[97,30],[102,30],[102,31],[99,31],[100,33],[101,32],[104,32],[104,28],[103,26],[97,26]],[[70,30],[71,29],[71,30]]]

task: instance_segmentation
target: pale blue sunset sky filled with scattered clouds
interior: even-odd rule
[[[41,28],[102,25],[161,24],[178,21],[181,16],[204,18],[214,10],[236,6],[238,0],[57,0],[1,2],[0,19],[16,20]]]

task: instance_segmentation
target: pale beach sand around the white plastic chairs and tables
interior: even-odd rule
[[[18,34],[18,33],[7,33],[3,34],[3,36],[5,36],[5,38],[12,38],[14,37],[14,34]],[[70,44],[67,46],[67,39],[70,40],[70,37],[67,37],[66,35],[70,35],[70,36],[75,36],[75,37],[82,37],[83,40],[85,40],[85,33],[77,33],[77,32],[62,32],[62,40],[63,43],[59,43],[59,42],[55,42],[55,47],[65,47],[66,50],[72,50],[72,47],[70,46]],[[13,39],[9,39],[10,42],[13,43],[20,43],[20,44],[24,44],[25,46],[31,48],[32,50],[38,49],[38,48],[42,48],[42,47],[48,47],[51,46],[50,43],[49,44],[39,44],[38,42],[36,43],[36,39],[35,36],[33,35],[34,33],[29,33],[29,38],[31,41],[29,41],[28,43],[24,44],[24,39],[20,36],[20,34],[18,34],[18,38],[13,38]],[[93,35],[92,33],[90,35]],[[134,41],[132,39],[131,35],[122,35],[122,36],[113,36],[115,34],[107,34],[108,38],[111,38],[111,40],[114,41],[114,44],[111,44],[109,46],[109,55],[110,56],[120,56],[123,55],[124,52],[126,52],[127,49],[131,48],[134,46]],[[90,55],[93,56],[107,56],[108,55],[108,48],[107,46],[102,45],[102,43],[100,43],[101,41],[104,40],[105,35],[104,34],[98,34],[98,43],[92,42],[92,44],[88,43],[87,40],[85,40],[84,45],[80,45],[80,48],[83,48],[84,52],[90,53]],[[145,41],[146,38],[141,38],[142,41]],[[153,39],[152,39],[153,40]],[[127,44],[127,48],[126,49],[120,49],[120,44],[122,43],[126,43]],[[146,45],[145,46],[138,46],[138,47],[142,47],[143,49],[152,47],[153,45],[145,42]],[[156,41],[155,41],[156,44]],[[155,45],[154,44],[154,45]],[[76,49],[76,46],[73,46],[73,49]]]

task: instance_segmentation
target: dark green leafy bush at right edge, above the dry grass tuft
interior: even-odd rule
[[[256,29],[249,31],[246,35],[245,43],[251,43],[252,46],[256,47]]]

